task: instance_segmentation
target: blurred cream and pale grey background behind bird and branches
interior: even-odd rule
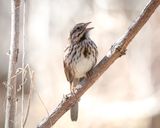
[[[25,64],[35,72],[26,128],[53,111],[69,83],[63,71],[63,53],[69,32],[79,22],[94,29],[91,39],[99,50],[98,60],[128,30],[149,0],[27,0]],[[5,98],[10,44],[10,1],[0,0],[0,127],[4,127]],[[80,100],[79,119],[67,112],[55,128],[160,128],[160,8],[118,59]],[[21,42],[20,42],[21,43]],[[21,67],[22,46],[20,45]],[[21,82],[18,81],[20,84]],[[25,84],[25,110],[30,82]],[[18,92],[17,126],[21,97]],[[43,102],[42,102],[43,101]],[[44,107],[44,105],[45,107]]]

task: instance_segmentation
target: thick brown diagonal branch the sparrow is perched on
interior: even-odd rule
[[[89,72],[90,77],[83,79],[77,87],[75,95],[67,95],[58,105],[58,107],[45,118],[37,128],[50,128],[56,121],[67,112],[73,104],[94,84],[94,82],[112,65],[112,63],[125,54],[126,48],[144,24],[148,21],[150,16],[154,13],[155,9],[159,6],[160,0],[151,0],[140,16],[130,26],[128,31],[121,37],[120,40],[115,42],[107,55],[96,65],[96,67]]]

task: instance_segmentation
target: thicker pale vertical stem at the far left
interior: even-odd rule
[[[15,128],[16,115],[16,66],[19,51],[19,15],[20,0],[11,0],[11,40],[7,80],[7,101],[5,111],[5,128]]]

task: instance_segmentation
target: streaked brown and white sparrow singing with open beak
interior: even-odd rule
[[[87,28],[88,23],[79,23],[71,30],[69,46],[65,50],[64,71],[70,82],[70,91],[75,93],[75,88],[81,78],[86,77],[97,62],[97,46],[89,38],[88,32],[93,29]],[[71,120],[77,121],[78,102],[71,108]]]

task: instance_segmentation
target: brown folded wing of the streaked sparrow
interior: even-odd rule
[[[65,63],[65,60],[63,61],[63,65],[64,65],[64,72],[66,74],[66,78],[70,83],[72,83],[74,77],[73,77],[71,67]]]

